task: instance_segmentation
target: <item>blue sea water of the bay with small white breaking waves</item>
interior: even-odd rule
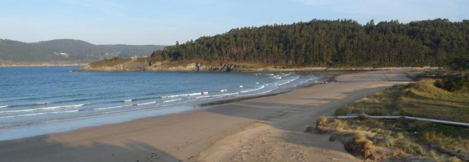
[[[177,113],[201,102],[286,91],[320,78],[295,73],[71,72],[78,68],[0,68],[0,140]]]

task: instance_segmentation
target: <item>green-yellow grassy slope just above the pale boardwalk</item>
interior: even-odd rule
[[[394,86],[341,107],[336,115],[405,115],[469,122],[469,93],[448,92],[435,87],[434,81],[426,79]]]

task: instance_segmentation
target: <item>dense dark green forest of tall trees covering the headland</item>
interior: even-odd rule
[[[155,51],[179,60],[246,61],[293,66],[443,66],[467,56],[469,20],[311,20],[243,27]]]

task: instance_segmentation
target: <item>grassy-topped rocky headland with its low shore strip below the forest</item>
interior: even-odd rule
[[[291,72],[291,71],[370,71],[399,69],[438,69],[438,67],[281,67],[236,62],[154,61],[147,57],[92,62],[76,71],[160,71],[160,72]]]

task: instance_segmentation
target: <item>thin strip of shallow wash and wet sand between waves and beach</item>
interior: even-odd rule
[[[245,101],[245,100],[252,100],[256,98],[262,98],[262,97],[268,97],[268,96],[276,96],[279,94],[287,93],[290,92],[294,89],[298,89],[300,87],[304,86],[312,86],[315,84],[318,84],[317,82],[322,82],[325,80],[331,80],[331,78],[334,78],[338,74],[341,74],[344,72],[337,72],[334,74],[331,73],[314,73],[317,76],[320,76],[319,80],[315,81],[307,81],[306,83],[300,83],[295,86],[290,86],[287,89],[283,90],[277,90],[274,92],[269,92],[269,93],[260,93],[260,94],[252,94],[252,95],[245,95],[242,97],[228,97],[228,98],[223,98],[223,99],[215,99],[215,100],[205,100],[205,101],[185,101],[182,103],[175,103],[175,104],[170,104],[168,106],[159,106],[159,105],[154,105],[154,106],[149,106],[149,107],[143,107],[143,108],[138,108],[138,109],[130,109],[130,110],[121,110],[117,112],[105,112],[101,114],[85,114],[85,115],[80,115],[80,116],[73,116],[73,117],[65,117],[65,118],[52,118],[52,119],[43,119],[39,121],[26,121],[26,122],[21,122],[21,123],[6,123],[6,124],[0,124],[0,130],[3,129],[4,132],[6,133],[11,133],[15,134],[18,132],[24,132],[25,130],[28,129],[29,125],[38,125],[41,127],[44,127],[45,125],[56,125],[60,128],[62,128],[62,131],[58,131],[60,129],[55,129],[54,131],[49,131],[47,133],[32,133],[30,135],[22,135],[20,137],[1,137],[0,136],[0,142],[1,141],[7,141],[7,140],[15,140],[15,139],[22,139],[22,138],[31,138],[31,137],[36,137],[36,136],[43,136],[47,134],[54,134],[54,133],[63,133],[63,132],[69,132],[69,131],[74,131],[86,127],[94,127],[94,126],[102,126],[106,124],[114,124],[114,123],[122,123],[122,122],[128,122],[128,121],[133,121],[133,120],[138,120],[138,119],[143,119],[143,118],[149,118],[149,117],[157,117],[157,116],[164,116],[168,114],[177,114],[177,113],[186,113],[189,111],[192,111],[191,107],[197,107],[197,108],[205,108],[210,105],[215,105],[215,104],[226,104],[226,103],[231,103],[231,102],[238,102],[238,101]],[[309,75],[311,73],[300,73],[304,75]],[[277,88],[276,88],[277,89]],[[281,88],[280,88],[281,89]],[[189,102],[186,104],[186,102]],[[177,109],[177,110],[176,110]],[[144,111],[152,112],[154,115],[145,115]],[[161,112],[156,112],[156,111],[161,111]],[[133,112],[133,113],[132,113]],[[127,119],[124,115],[127,114],[128,116],[132,116],[134,118],[132,119]],[[136,117],[139,115],[143,115],[143,117]],[[113,118],[119,118],[119,116],[123,117],[121,120],[114,120]],[[82,123],[87,123],[90,121],[96,121],[96,119],[99,118],[105,118],[109,120],[110,122],[102,122],[101,124],[92,124],[92,125],[86,125]],[[126,119],[124,119],[126,118]],[[64,126],[66,124],[54,124],[49,121],[62,121],[66,122],[70,125],[73,126]],[[99,122],[99,121],[97,121]],[[16,129],[16,130],[15,130]],[[34,132],[37,132],[38,130],[35,130]],[[41,132],[41,131],[39,131]],[[27,134],[27,133],[25,133]]]

